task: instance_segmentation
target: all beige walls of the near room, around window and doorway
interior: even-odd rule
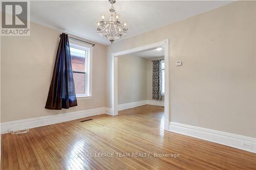
[[[255,7],[234,2],[108,48],[96,44],[93,99],[57,111],[44,107],[60,32],[31,23],[31,36],[1,37],[1,122],[111,108],[111,53],[169,38],[170,121],[256,137]]]

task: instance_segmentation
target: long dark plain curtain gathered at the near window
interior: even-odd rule
[[[77,106],[68,34],[62,33],[55,59],[46,109]]]

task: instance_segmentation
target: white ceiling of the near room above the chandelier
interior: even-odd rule
[[[226,5],[230,1],[116,1],[120,21],[127,22],[129,38],[175,21]],[[96,33],[102,14],[110,17],[108,1],[31,1],[31,21],[67,33],[110,44]],[[124,39],[122,38],[122,39]]]

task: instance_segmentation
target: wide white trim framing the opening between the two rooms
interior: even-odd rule
[[[125,50],[121,52],[112,53],[112,115],[118,115],[118,81],[117,81],[117,58],[121,55],[127,55],[135,52],[141,52],[146,50],[152,50],[157,47],[164,48],[164,130],[169,130],[169,101],[170,101],[170,93],[169,93],[169,39],[165,39],[163,41],[148,44],[144,46],[139,46],[136,48],[132,48],[130,50]]]

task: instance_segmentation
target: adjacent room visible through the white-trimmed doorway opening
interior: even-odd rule
[[[117,67],[118,115],[146,114],[164,129],[163,47],[121,55]]]

